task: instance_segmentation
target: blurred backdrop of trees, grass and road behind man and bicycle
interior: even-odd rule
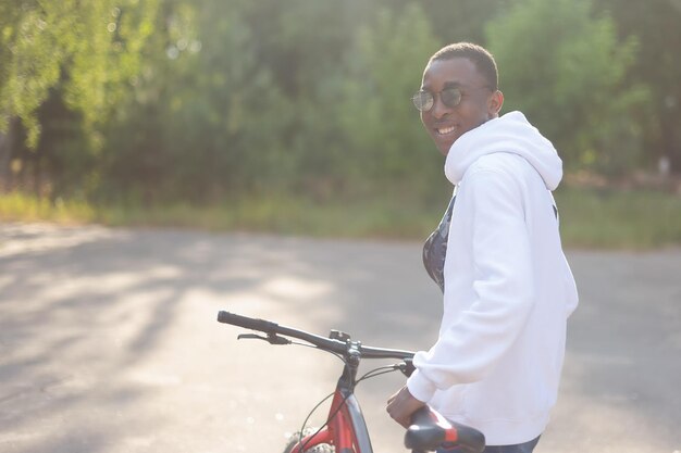
[[[0,0],[0,450],[283,445],[337,364],[218,310],[432,344],[451,187],[410,97],[459,40],[565,163],[540,450],[681,452],[681,0]],[[360,388],[376,451],[392,378]]]

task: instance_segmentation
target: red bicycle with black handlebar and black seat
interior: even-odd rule
[[[354,341],[350,336],[339,330],[332,330],[329,338],[305,330],[280,326],[276,323],[220,311],[218,322],[265,334],[242,334],[237,339],[264,340],[270,344],[298,344],[315,348],[336,355],[344,362],[343,373],[336,388],[313,410],[333,397],[326,421],[319,429],[307,429],[306,418],[297,438],[294,437],[284,453],[373,453],[369,430],[359,402],[355,397],[355,387],[362,380],[384,373],[400,370],[406,376],[413,372],[411,358],[413,352],[396,349],[372,348]],[[289,338],[302,340],[296,342]],[[361,358],[396,358],[401,362],[374,368],[357,378]],[[312,414],[310,413],[310,415]],[[405,433],[405,446],[412,453],[435,451],[439,448],[459,448],[467,453],[481,453],[485,448],[485,438],[474,428],[449,421],[429,406],[417,411],[411,426]]]

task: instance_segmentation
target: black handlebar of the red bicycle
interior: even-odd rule
[[[345,354],[348,351],[348,342],[335,340],[333,338],[321,337],[305,330],[294,329],[292,327],[280,326],[267,319],[258,319],[248,316],[237,315],[225,311],[218,313],[218,322],[231,324],[233,326],[244,327],[249,330],[258,330],[268,335],[283,335],[286,337],[297,338],[314,344],[321,350],[335,352],[336,354]],[[411,358],[413,352],[403,351],[399,349],[385,349],[372,347],[359,347],[362,358]]]

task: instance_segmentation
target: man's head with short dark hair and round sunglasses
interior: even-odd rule
[[[461,135],[498,116],[504,95],[494,58],[470,42],[442,48],[428,62],[413,102],[437,149],[447,155]]]

